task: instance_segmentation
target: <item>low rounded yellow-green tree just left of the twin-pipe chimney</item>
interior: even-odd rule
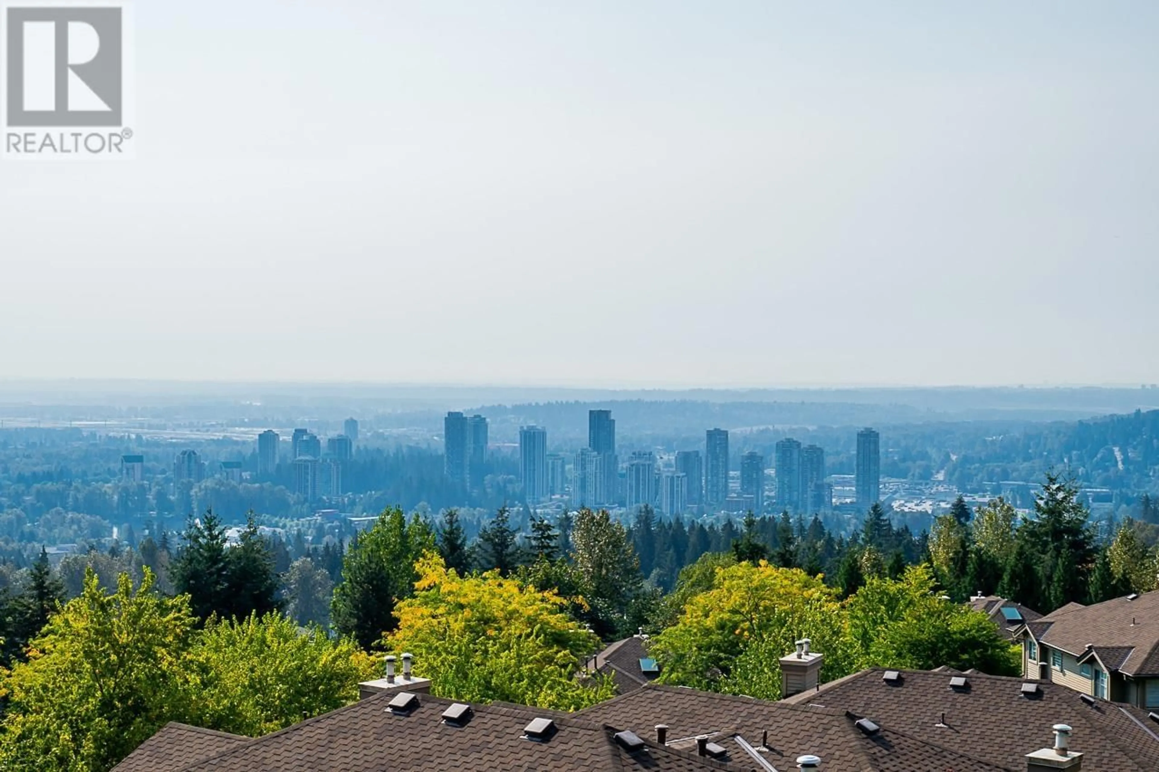
[[[379,677],[374,658],[350,639],[302,633],[280,613],[211,620],[191,647],[192,723],[260,737],[358,699]]]

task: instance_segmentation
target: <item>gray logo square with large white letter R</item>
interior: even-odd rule
[[[119,7],[10,7],[7,14],[9,126],[122,125]]]

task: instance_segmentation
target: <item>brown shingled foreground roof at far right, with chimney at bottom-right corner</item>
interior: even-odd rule
[[[954,690],[950,673],[902,670],[891,685],[884,672],[865,670],[787,701],[865,713],[883,727],[965,748],[1011,769],[1026,769],[1026,753],[1050,746],[1050,728],[1062,722],[1074,728],[1071,748],[1086,755],[1084,767],[1159,770],[1159,724],[1137,708],[1106,700],[1088,704],[1065,686],[1005,676],[971,673],[965,689]],[[1023,695],[1023,683],[1035,684],[1037,693]]]

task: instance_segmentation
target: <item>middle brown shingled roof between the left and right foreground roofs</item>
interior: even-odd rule
[[[822,769],[833,772],[930,769],[996,772],[1007,769],[880,724],[876,716],[869,718],[880,728],[867,735],[857,726],[858,720],[866,716],[844,709],[768,702],[680,686],[649,684],[576,715],[633,727],[636,734],[663,723],[669,727],[669,745],[690,751],[695,748],[698,736],[707,735],[710,742],[724,749],[724,760],[749,769],[760,763],[745,745],[778,770],[794,769],[796,758],[804,755],[819,756]],[[1035,749],[1027,749],[1030,750]]]

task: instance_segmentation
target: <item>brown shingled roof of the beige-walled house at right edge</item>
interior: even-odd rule
[[[1159,591],[1092,606],[1067,604],[1027,629],[1038,642],[1077,657],[1093,646],[1111,670],[1136,678],[1159,677]]]

